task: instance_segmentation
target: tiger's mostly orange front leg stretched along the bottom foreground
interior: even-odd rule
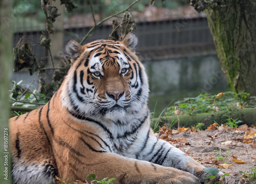
[[[127,158],[116,153],[92,152],[86,161],[80,163],[83,162],[83,171],[77,170],[76,173],[79,178],[95,174],[99,179],[116,178],[115,184],[200,184],[199,179],[188,172]],[[67,168],[67,171],[68,174],[70,168]],[[68,175],[63,176],[67,177]]]

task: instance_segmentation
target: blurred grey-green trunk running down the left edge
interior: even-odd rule
[[[12,1],[0,0],[0,183],[11,184],[11,153],[9,135],[9,84],[12,74]]]

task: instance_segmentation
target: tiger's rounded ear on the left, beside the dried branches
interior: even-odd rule
[[[69,40],[64,48],[64,56],[66,59],[74,63],[83,52],[83,47],[76,40]]]

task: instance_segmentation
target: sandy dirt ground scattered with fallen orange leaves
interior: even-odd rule
[[[158,136],[180,148],[205,167],[216,167],[224,174],[230,173],[226,176],[228,184],[256,183],[256,181],[247,181],[246,177],[242,178],[244,174],[240,173],[242,171],[248,173],[249,168],[256,164],[255,126],[227,128],[223,125],[221,127],[213,125],[204,131],[183,128],[172,132],[163,127],[160,128]],[[225,169],[221,164],[229,164],[229,167]]]

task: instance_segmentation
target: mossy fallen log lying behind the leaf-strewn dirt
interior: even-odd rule
[[[226,116],[225,116],[226,115]],[[202,113],[202,114],[194,114],[194,115],[179,115],[180,119],[180,127],[190,127],[196,126],[198,123],[203,123],[203,129],[206,129],[210,124],[214,124],[216,121],[219,125],[227,122],[228,117],[233,118],[234,120],[242,120],[241,124],[247,124],[248,126],[256,126],[256,109],[239,109],[236,111],[221,111],[221,112],[213,112],[213,113]],[[237,121],[238,121],[237,120]],[[166,116],[161,117],[160,119],[154,118],[153,124],[159,122],[159,126],[163,126],[166,124],[171,124],[172,122],[176,122],[174,127],[178,125],[177,116]]]

